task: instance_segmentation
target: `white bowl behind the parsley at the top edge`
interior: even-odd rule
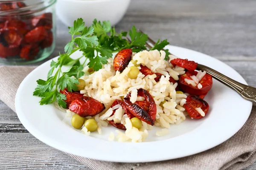
[[[124,16],[131,0],[57,0],[56,11],[60,20],[67,26],[73,26],[74,20],[83,18],[85,25],[92,21],[109,20],[116,25]]]

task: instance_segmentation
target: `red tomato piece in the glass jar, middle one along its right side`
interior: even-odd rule
[[[39,26],[26,33],[24,39],[26,43],[34,43],[41,42],[46,37],[48,37],[47,30],[44,26]]]

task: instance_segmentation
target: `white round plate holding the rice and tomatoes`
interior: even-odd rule
[[[187,58],[213,68],[238,82],[247,84],[233,68],[208,55],[185,48],[168,46],[180,58]],[[78,53],[75,54],[80,57]],[[76,57],[73,56],[73,57]],[[57,57],[55,58],[55,60]],[[150,162],[189,156],[208,150],[233,136],[246,122],[252,103],[220,82],[213,80],[205,100],[209,113],[203,119],[186,119],[180,125],[171,125],[166,136],[155,136],[158,127],[149,130],[145,142],[109,142],[109,133],[115,127],[102,128],[102,135],[86,136],[65,120],[65,113],[53,104],[39,105],[40,98],[32,96],[37,79],[46,79],[51,60],[32,71],[18,88],[15,107],[20,122],[42,142],[74,155],[116,162]]]

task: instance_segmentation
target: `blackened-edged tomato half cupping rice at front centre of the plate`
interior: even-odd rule
[[[137,95],[145,98],[144,101],[147,103],[146,107],[148,107],[149,105],[148,111],[146,111],[147,109],[144,109],[144,105],[139,105],[142,104],[142,102],[132,103],[130,101],[131,92],[127,94],[127,96],[124,98],[126,107],[134,116],[136,116],[140,120],[148,123],[149,125],[154,125],[154,121],[156,119],[157,114],[157,105],[154,102],[154,98],[151,96],[151,94],[149,94],[148,91],[146,91],[143,88],[138,89]]]

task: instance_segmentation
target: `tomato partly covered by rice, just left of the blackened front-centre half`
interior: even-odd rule
[[[111,105],[111,108],[113,108],[113,106],[115,105],[121,105],[122,108],[125,110],[125,113],[124,114],[127,114],[127,116],[131,119],[134,117],[133,114],[131,114],[131,112],[128,110],[128,108],[126,108],[126,105],[125,105],[125,102],[123,102],[122,100],[119,100],[119,99],[116,99],[112,105]],[[113,111],[113,113],[111,114],[111,116],[114,115],[116,111]],[[109,120],[108,121],[112,126],[118,128],[118,129],[121,129],[121,130],[126,130],[125,126],[121,123],[115,123],[113,120]]]

